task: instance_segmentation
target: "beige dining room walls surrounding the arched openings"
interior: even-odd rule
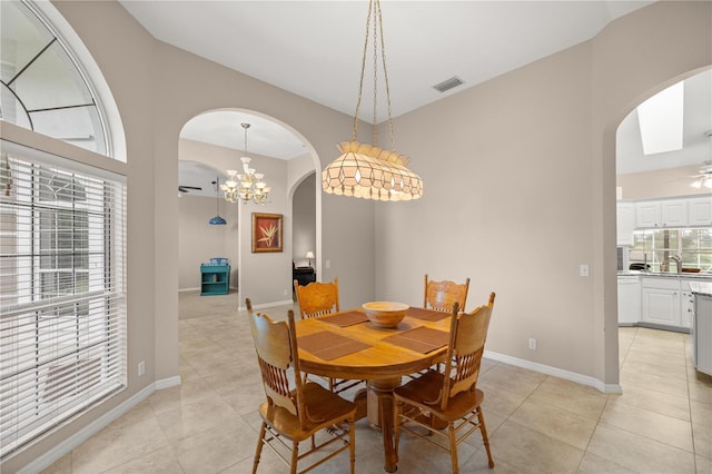
[[[14,456],[9,471],[178,374],[176,185],[187,120],[216,108],[259,111],[306,138],[319,168],[350,136],[349,117],[157,42],[116,2],[55,6],[103,72],[127,137],[129,388]],[[711,8],[655,3],[592,41],[398,117],[398,151],[412,157],[425,197],[317,195],[320,278],[338,275],[350,307],[374,297],[417,304],[426,271],[469,276],[469,308],[497,292],[488,350],[615,388],[615,130],[643,99],[712,63]],[[280,205],[268,211],[288,214]],[[590,277],[578,276],[580,264]],[[251,275],[246,292],[269,287],[263,278],[279,271]],[[147,362],[141,378],[138,361]]]

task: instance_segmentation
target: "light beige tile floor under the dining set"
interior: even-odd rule
[[[63,456],[47,474],[249,473],[263,402],[237,295],[180,296],[182,385],[159,391]],[[286,317],[288,307],[265,313]],[[496,317],[496,312],[495,312]],[[620,328],[623,395],[485,359],[478,386],[505,473],[712,473],[712,382],[694,371],[689,337]],[[382,441],[357,423],[356,472],[384,472]],[[478,433],[459,446],[461,472],[490,472]],[[400,473],[451,472],[449,456],[400,440]],[[316,473],[343,473],[337,457]],[[260,473],[287,472],[263,452]]]

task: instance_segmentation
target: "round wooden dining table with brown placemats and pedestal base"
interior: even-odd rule
[[[367,382],[366,396],[357,394],[355,401],[357,404],[366,401],[366,416],[370,425],[383,432],[384,470],[395,472],[398,460],[393,433],[393,389],[400,385],[402,376],[415,374],[445,358],[451,315],[411,308],[397,327],[380,328],[368,320],[353,323],[358,320],[359,314],[365,319],[363,310],[347,309],[297,322],[299,365],[309,374]],[[416,340],[415,346],[408,348],[406,339],[411,334],[415,337],[416,333],[438,336],[433,346],[439,346],[428,350],[428,346],[423,345],[427,340],[423,344]],[[340,355],[343,350],[348,353]]]

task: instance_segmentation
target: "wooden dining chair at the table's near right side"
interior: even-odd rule
[[[457,474],[459,471],[457,445],[479,429],[487,451],[490,467],[494,467],[482,413],[484,393],[477,388],[494,298],[495,294],[492,293],[487,305],[479,306],[472,313],[459,313],[459,305],[455,303],[447,358],[444,363],[445,371],[431,371],[394,391],[396,454],[400,432],[405,431],[448,451],[453,473]],[[435,421],[439,421],[439,425],[447,423],[447,432],[438,429],[438,423],[434,423]],[[422,428],[426,429],[427,435],[422,432]],[[432,435],[442,436],[447,441],[438,443]]]

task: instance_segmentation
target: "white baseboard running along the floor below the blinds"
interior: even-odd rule
[[[180,376],[164,378],[160,381],[156,381],[152,384],[145,387],[142,391],[136,393],[130,398],[122,402],[120,405],[110,409],[109,412],[101,415],[99,418],[85,426],[73,435],[69,436],[41,456],[34,458],[30,464],[22,467],[18,471],[18,474],[33,474],[39,473],[51,466],[55,462],[60,460],[67,453],[70,453],[73,448],[79,446],[85,441],[89,440],[91,436],[99,433],[101,429],[111,424],[115,419],[119,418],[121,415],[127,413],[129,409],[148,398],[150,394],[156,392],[157,389],[172,387],[175,385],[180,385]]]

